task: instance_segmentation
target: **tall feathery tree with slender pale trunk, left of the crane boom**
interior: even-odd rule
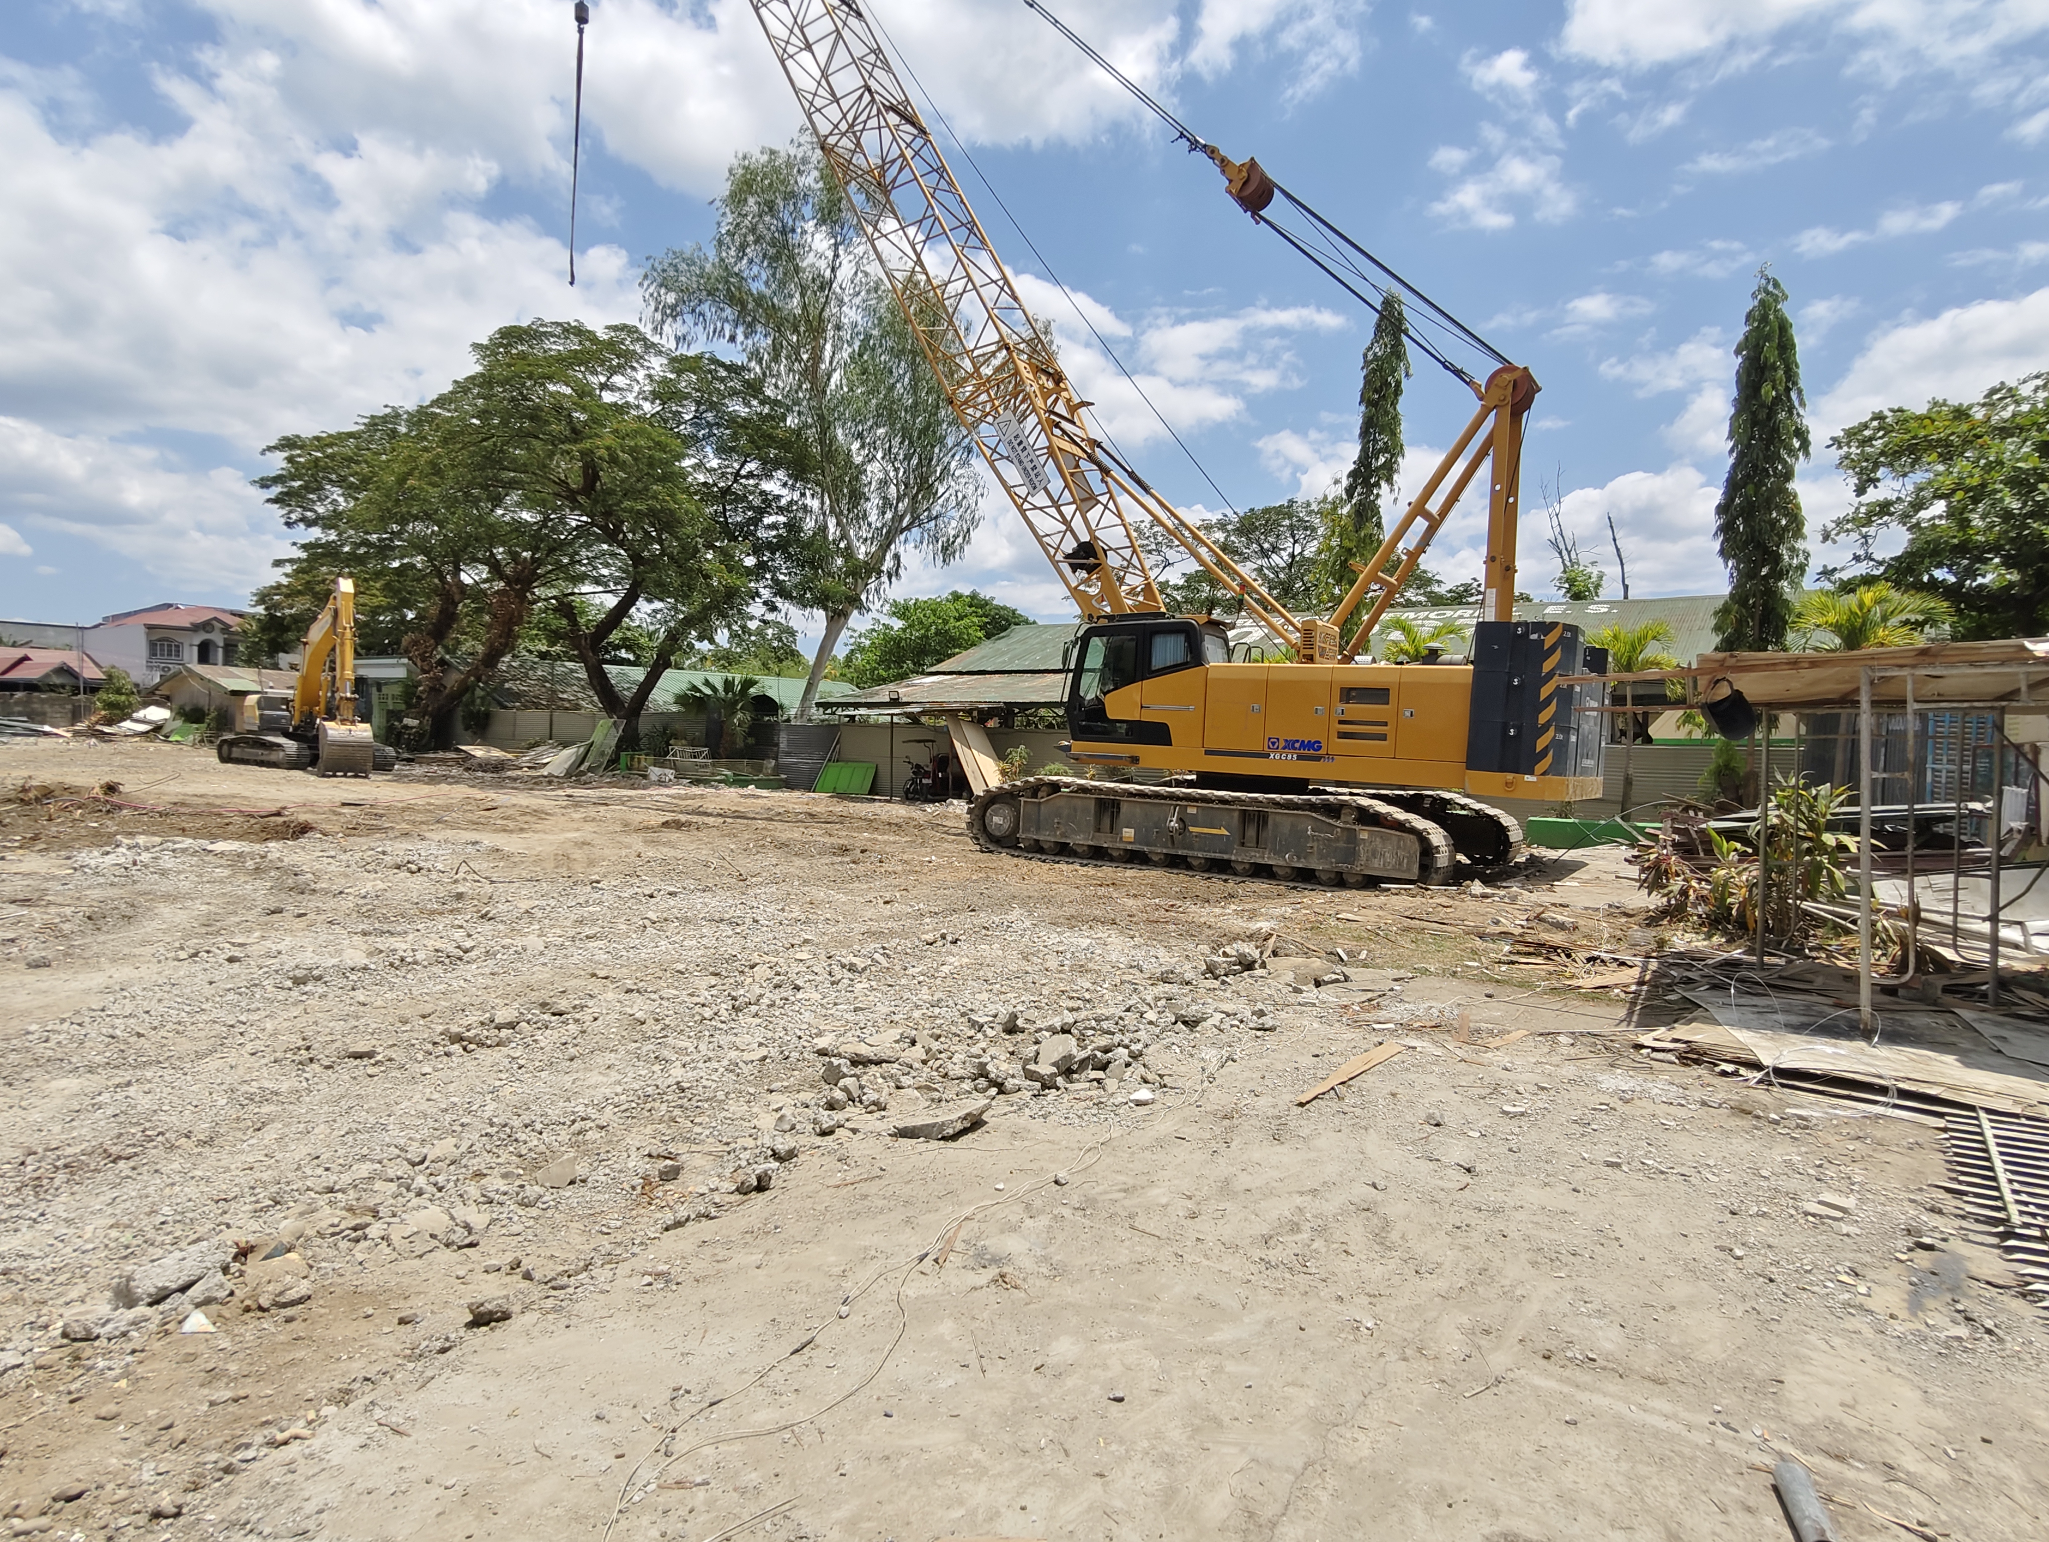
[[[953,414],[846,197],[809,143],[734,160],[711,248],[656,258],[641,295],[678,340],[738,344],[803,442],[803,541],[779,598],[826,616],[797,719],[809,719],[846,625],[904,571],[955,561],[981,483]]]

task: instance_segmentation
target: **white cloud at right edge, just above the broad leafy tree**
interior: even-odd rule
[[[1873,334],[1842,381],[1815,403],[1815,440],[1883,408],[1973,399],[2000,381],[2043,369],[2045,360],[2049,289],[1899,322]]]

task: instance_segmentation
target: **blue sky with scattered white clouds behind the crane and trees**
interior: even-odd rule
[[[1350,459],[1371,315],[1260,231],[1020,0],[873,0],[1084,393],[1184,506]],[[1711,512],[1756,266],[1793,295],[1817,448],[1846,422],[2049,369],[2049,2],[1065,0],[1197,131],[1262,164],[1545,387],[1545,489],[1635,594],[1719,588]],[[277,434],[443,387],[504,322],[637,315],[731,154],[797,113],[744,0],[596,0],[563,285],[568,0],[51,0],[0,35],[0,616],[242,602],[285,551]],[[1471,410],[1428,362],[1412,475]],[[1813,530],[1848,494],[1826,451]],[[1430,565],[1477,571],[1461,512]],[[1606,561],[1613,586],[1613,559]],[[1061,594],[1008,510],[902,592]]]

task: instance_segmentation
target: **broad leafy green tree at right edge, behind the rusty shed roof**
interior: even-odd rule
[[[1934,594],[1957,635],[2049,633],[2049,373],[1977,401],[1887,408],[1830,440],[1856,506],[1822,532],[1850,537],[1848,569]],[[1906,545],[1877,553],[1881,534]]]

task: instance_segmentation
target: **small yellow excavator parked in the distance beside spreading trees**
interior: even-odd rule
[[[398,752],[377,743],[369,723],[357,723],[354,580],[336,577],[334,594],[305,629],[291,696],[244,696],[242,721],[221,735],[215,754],[229,766],[311,766],[320,776],[369,776],[398,764]]]

